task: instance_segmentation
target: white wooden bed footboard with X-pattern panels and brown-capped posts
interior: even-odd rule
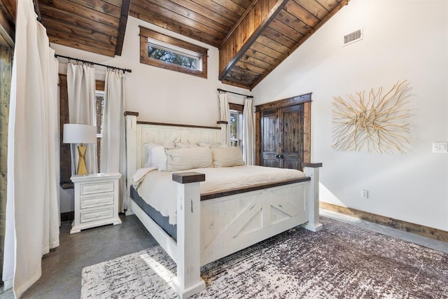
[[[206,263],[297,225],[314,232],[321,230],[318,212],[321,166],[321,163],[304,165],[309,181],[202,202],[200,181],[205,180],[204,174],[173,174],[173,181],[178,183],[178,259],[173,282],[179,297],[188,298],[205,288],[200,267]]]

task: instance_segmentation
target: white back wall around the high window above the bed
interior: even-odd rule
[[[208,78],[141,64],[139,26],[208,48]],[[106,57],[55,43],[51,47],[58,55],[132,69],[132,73],[126,73],[125,110],[139,112],[138,120],[216,126],[219,118],[217,88],[250,95],[248,90],[223,85],[218,81],[218,48],[168,32],[137,18],[130,17],[127,20],[121,56]],[[59,73],[66,74],[67,60],[59,61]],[[97,79],[104,80],[105,72],[104,67],[95,67]],[[228,94],[228,97],[229,102],[244,104],[242,97],[232,94]],[[61,211],[73,211],[73,194],[62,191]]]

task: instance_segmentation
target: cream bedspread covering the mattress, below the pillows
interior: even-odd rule
[[[209,167],[189,169],[183,172],[205,174],[200,183],[200,192],[213,193],[235,188],[274,183],[289,179],[300,179],[303,172],[296,169],[280,169],[253,165],[235,167]],[[169,217],[169,223],[176,224],[176,182],[172,181],[173,172],[159,172],[154,168],[137,170],[132,176],[137,192],[151,206]]]

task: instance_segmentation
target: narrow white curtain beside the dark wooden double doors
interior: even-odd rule
[[[255,153],[255,123],[253,120],[252,99],[246,97],[243,109],[243,158],[247,165],[253,165]]]

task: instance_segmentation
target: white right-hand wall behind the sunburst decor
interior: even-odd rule
[[[345,34],[364,38],[342,47]],[[332,100],[409,81],[410,151],[341,152]],[[255,105],[313,92],[311,160],[323,162],[321,201],[448,230],[448,1],[351,0],[255,89]],[[360,190],[369,191],[367,200]]]

